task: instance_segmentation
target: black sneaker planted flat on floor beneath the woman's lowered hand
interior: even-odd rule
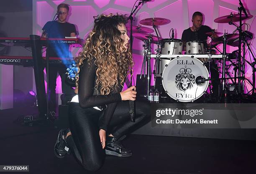
[[[105,152],[106,155],[118,157],[132,156],[131,150],[124,148],[120,141],[117,141],[115,137],[110,136],[108,136],[106,140]]]

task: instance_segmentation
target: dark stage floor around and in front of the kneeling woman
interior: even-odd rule
[[[54,156],[58,129],[13,123],[36,108],[0,110],[0,165],[29,165],[33,174],[87,174],[71,155]],[[256,141],[130,135],[133,156],[106,156],[96,174],[244,174],[256,171]]]

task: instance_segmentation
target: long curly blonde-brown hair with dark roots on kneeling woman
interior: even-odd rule
[[[124,15],[100,15],[95,18],[95,24],[87,37],[83,51],[77,57],[77,67],[79,74],[80,67],[84,60],[91,66],[95,64],[97,92],[101,95],[108,95],[117,87],[118,83],[122,84],[128,74],[128,70],[133,67],[131,52],[126,51],[121,39],[121,32],[118,26],[126,23]],[[95,61],[92,62],[92,59]],[[78,87],[79,77],[77,76],[76,87]]]

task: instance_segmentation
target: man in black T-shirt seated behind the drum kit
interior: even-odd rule
[[[205,47],[206,40],[209,35],[207,35],[207,32],[211,32],[212,29],[208,26],[202,25],[203,15],[201,12],[195,12],[192,15],[192,23],[193,26],[189,27],[188,29],[184,30],[182,33],[182,41],[183,41],[183,50],[186,51],[186,42],[187,41],[205,41]],[[213,36],[214,38],[218,36]],[[207,69],[208,64],[206,65]],[[211,82],[212,82],[212,96],[217,99],[219,95],[219,72],[218,72],[218,66],[214,62],[210,64],[210,73],[211,73]]]

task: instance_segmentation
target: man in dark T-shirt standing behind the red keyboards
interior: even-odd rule
[[[67,16],[69,15],[69,5],[61,3],[57,7],[58,20],[47,22],[42,28],[43,34],[41,37],[46,38],[65,38],[75,37],[77,35],[74,24],[67,22]],[[72,57],[69,51],[69,44],[51,44],[46,51],[50,57]],[[61,77],[62,93],[67,95],[73,95],[74,90],[65,83],[67,65],[55,65],[49,64],[49,110],[56,112],[56,78],[59,72]]]

